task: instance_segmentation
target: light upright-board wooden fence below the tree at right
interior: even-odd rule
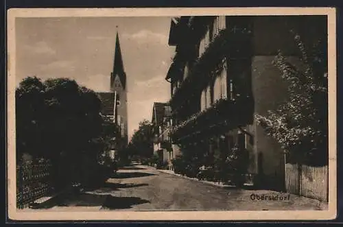
[[[287,163],[286,191],[320,201],[329,200],[329,168]]]

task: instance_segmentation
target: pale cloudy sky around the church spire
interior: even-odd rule
[[[170,98],[165,75],[174,55],[169,17],[16,19],[16,84],[27,76],[69,77],[94,91],[110,91],[119,32],[127,75],[129,139],[152,119],[154,101]]]

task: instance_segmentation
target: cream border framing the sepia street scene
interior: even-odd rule
[[[203,15],[327,15],[329,32],[329,209],[327,211],[99,211],[21,212],[16,209],[15,158],[15,29],[19,17]],[[8,215],[14,220],[226,221],[334,219],[337,213],[336,163],[336,12],[335,8],[12,8],[8,10]]]

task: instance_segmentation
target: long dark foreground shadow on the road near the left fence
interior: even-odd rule
[[[57,206],[102,206],[107,209],[131,208],[134,205],[148,203],[138,197],[115,197],[113,195],[99,195],[95,193],[80,193],[73,198],[66,198]],[[150,202],[149,202],[150,203]]]

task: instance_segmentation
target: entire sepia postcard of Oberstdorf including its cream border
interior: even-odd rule
[[[176,9],[8,12],[10,218],[335,218],[335,10]]]

